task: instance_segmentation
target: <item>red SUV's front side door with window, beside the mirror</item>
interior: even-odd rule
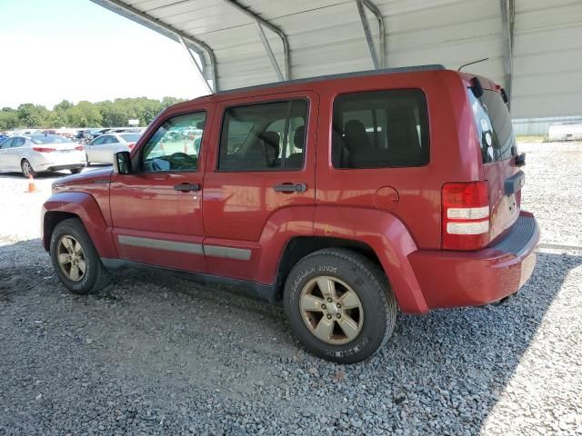
[[[202,184],[211,109],[208,105],[158,123],[136,150],[135,172],[115,174],[111,215],[121,259],[206,271]],[[201,147],[195,144],[199,135]]]

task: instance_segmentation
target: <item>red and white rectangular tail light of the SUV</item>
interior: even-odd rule
[[[489,243],[489,184],[445,183],[443,197],[443,248],[478,250]]]

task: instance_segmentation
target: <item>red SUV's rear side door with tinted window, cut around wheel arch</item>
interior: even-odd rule
[[[216,104],[218,147],[204,186],[208,272],[258,281],[267,240],[281,228],[311,231],[317,110],[313,92]]]

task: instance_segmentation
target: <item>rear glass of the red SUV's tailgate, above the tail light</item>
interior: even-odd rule
[[[467,95],[477,124],[483,163],[504,161],[517,154],[511,116],[501,94],[484,90],[477,98],[470,88]]]

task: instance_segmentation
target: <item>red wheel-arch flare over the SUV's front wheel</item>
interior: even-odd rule
[[[68,192],[54,193],[43,205],[41,240],[45,250],[50,245],[51,215],[57,213],[73,213],[78,216],[91,240],[97,253],[101,257],[116,258],[115,244],[111,235],[111,227],[105,223],[105,218],[95,198],[88,193]]]

